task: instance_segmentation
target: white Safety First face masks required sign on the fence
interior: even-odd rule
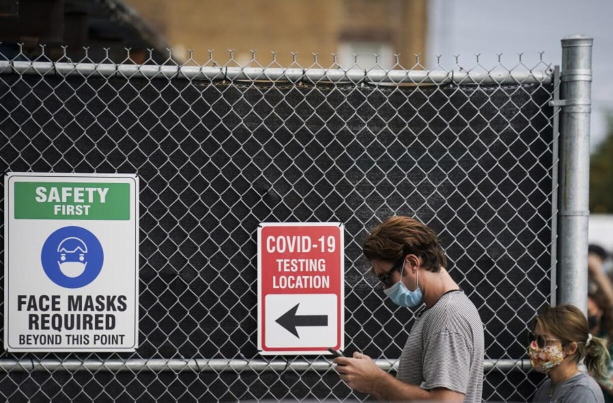
[[[4,348],[135,350],[137,194],[136,175],[6,175]]]

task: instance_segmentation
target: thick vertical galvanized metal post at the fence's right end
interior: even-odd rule
[[[592,42],[562,39],[558,303],[587,312],[587,225],[590,177]]]

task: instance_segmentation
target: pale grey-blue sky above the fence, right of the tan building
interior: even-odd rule
[[[606,113],[613,112],[613,0],[430,0],[428,66],[514,66],[523,53],[536,66],[562,63],[560,39],[571,34],[594,38],[592,53],[592,150],[606,134]]]

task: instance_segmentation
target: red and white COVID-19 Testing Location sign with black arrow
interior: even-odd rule
[[[343,350],[343,225],[262,223],[257,229],[261,355]]]

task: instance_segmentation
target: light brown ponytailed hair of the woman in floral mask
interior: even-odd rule
[[[611,356],[607,342],[599,337],[590,337],[585,315],[574,305],[545,307],[535,318],[535,327],[562,340],[562,345],[577,343],[574,360],[578,364],[584,358],[585,367],[596,380],[609,380]],[[589,342],[588,342],[589,341]]]

